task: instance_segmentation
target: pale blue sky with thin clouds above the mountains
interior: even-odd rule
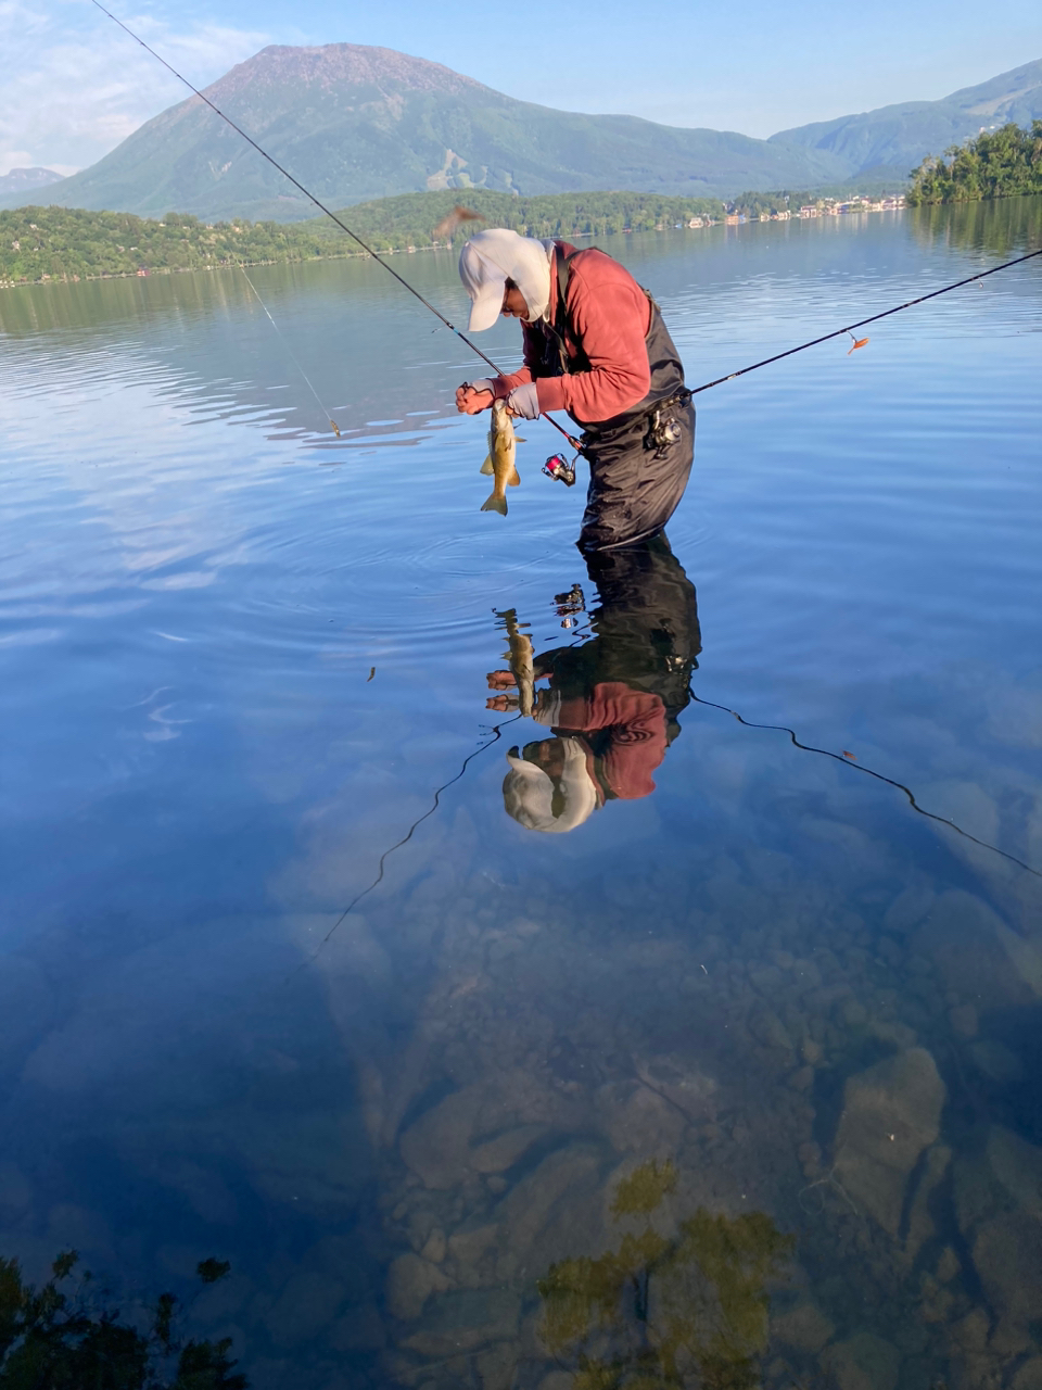
[[[932,100],[1042,57],[1039,0],[107,0],[197,85],[265,43],[372,43],[574,111],[766,136],[889,101]],[[0,0],[0,174],[71,172],[183,89],[89,0]]]

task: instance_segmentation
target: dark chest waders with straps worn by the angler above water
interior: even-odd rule
[[[572,252],[557,243],[557,311],[542,324],[543,377],[589,371],[582,342],[568,320],[565,292]],[[599,252],[597,254],[606,254]],[[647,293],[647,291],[645,291]],[[611,420],[582,421],[582,452],[589,460],[586,512],[579,532],[581,550],[611,550],[643,541],[665,525],[688,485],[695,459],[695,407],[684,385],[679,354],[647,295],[652,321],[645,335],[652,378],[643,400]],[[567,341],[578,346],[568,354]]]

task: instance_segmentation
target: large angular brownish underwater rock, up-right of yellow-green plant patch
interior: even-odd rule
[[[904,1188],[938,1136],[945,1083],[925,1048],[852,1076],[835,1141],[835,1172],[856,1205],[896,1237]]]

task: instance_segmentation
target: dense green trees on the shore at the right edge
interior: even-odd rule
[[[982,131],[943,156],[927,156],[911,172],[907,200],[968,203],[985,197],[1042,193],[1042,121],[1025,129],[1014,122]]]

